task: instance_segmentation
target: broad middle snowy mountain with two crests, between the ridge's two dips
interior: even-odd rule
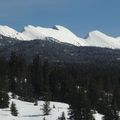
[[[85,41],[81,38],[78,38],[67,28],[56,25],[53,28],[43,28],[43,27],[34,27],[27,26],[22,32],[23,35],[29,37],[29,39],[45,39],[46,37],[54,38],[60,42],[70,43],[77,46],[85,45]]]

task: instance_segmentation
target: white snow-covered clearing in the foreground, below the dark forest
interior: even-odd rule
[[[62,112],[65,113],[66,120],[68,118],[69,105],[59,102],[50,102],[51,112],[50,115],[43,116],[42,108],[44,101],[38,101],[38,105],[34,106],[33,103],[24,102],[16,99],[11,99],[10,104],[14,102],[18,110],[18,116],[11,115],[10,108],[0,109],[0,120],[57,120]],[[10,106],[10,105],[9,105]],[[55,108],[53,107],[55,106]],[[96,113],[93,115],[95,120],[102,120],[103,115]]]

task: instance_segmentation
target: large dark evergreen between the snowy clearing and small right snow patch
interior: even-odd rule
[[[87,93],[83,88],[74,95],[75,101],[71,103],[69,109],[70,120],[94,120],[89,104]]]

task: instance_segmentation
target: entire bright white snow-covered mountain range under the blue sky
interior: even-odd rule
[[[51,38],[57,42],[69,43],[76,46],[96,46],[106,48],[120,48],[120,37],[107,36],[100,31],[89,32],[85,39],[76,36],[67,28],[55,25],[53,28],[28,25],[22,32],[18,32],[8,26],[0,25],[0,35],[18,40],[46,40]]]

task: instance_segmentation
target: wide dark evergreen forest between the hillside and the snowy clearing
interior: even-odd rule
[[[39,55],[27,62],[23,54],[0,57],[0,108],[8,107],[8,92],[19,99],[70,104],[72,120],[92,120],[98,111],[117,116],[120,110],[120,61],[51,63]],[[109,114],[108,114],[109,113]],[[111,118],[112,118],[111,117]],[[104,117],[106,120],[107,117]]]

